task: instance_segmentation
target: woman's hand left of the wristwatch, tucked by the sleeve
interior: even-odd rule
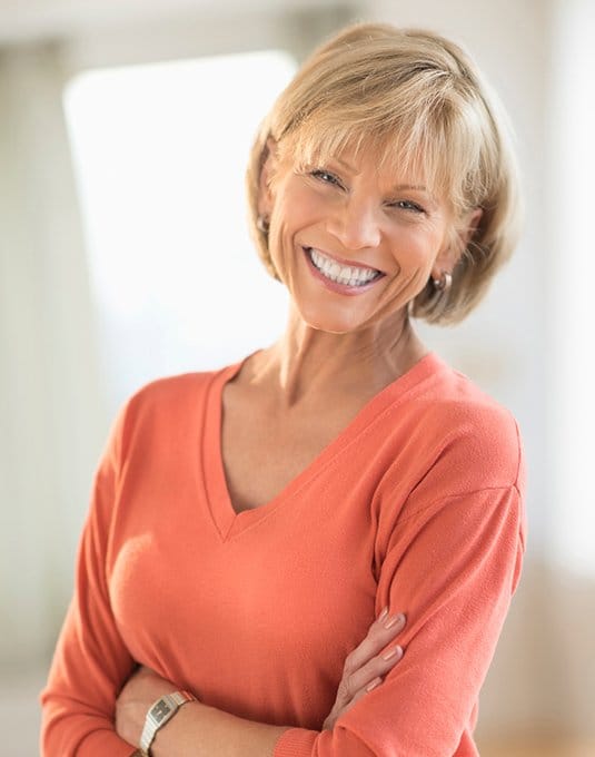
[[[145,718],[151,705],[178,687],[149,668],[139,668],[125,684],[116,700],[116,733],[132,746],[139,746]]]

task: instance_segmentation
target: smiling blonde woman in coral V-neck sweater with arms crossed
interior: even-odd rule
[[[522,451],[410,318],[462,319],[512,252],[502,116],[453,43],[356,26],[280,96],[248,187],[286,331],[120,413],[42,753],[476,755]]]

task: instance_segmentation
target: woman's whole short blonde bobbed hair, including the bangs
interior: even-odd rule
[[[250,230],[278,279],[267,233],[257,224],[269,139],[309,165],[347,146],[379,148],[395,170],[422,171],[455,218],[483,210],[475,229],[453,229],[459,257],[452,287],[436,296],[428,281],[409,304],[415,317],[440,324],[464,318],[516,245],[519,193],[507,119],[469,57],[433,32],[348,27],[311,55],[275,102],[255,140],[247,186]]]

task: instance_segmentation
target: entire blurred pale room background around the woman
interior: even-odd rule
[[[117,409],[284,328],[244,167],[298,62],[354,20],[452,37],[510,114],[522,244],[465,324],[423,332],[513,410],[528,459],[528,552],[482,754],[595,755],[595,2],[0,0],[2,755],[38,754],[37,697]]]

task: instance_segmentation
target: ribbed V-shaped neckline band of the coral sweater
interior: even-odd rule
[[[222,393],[225,385],[239,373],[244,364],[257,352],[259,351],[252,352],[237,363],[216,372],[207,397],[204,436],[200,444],[202,483],[211,518],[221,541],[228,541],[246,529],[252,528],[294,498],[305,484],[321,472],[341,450],[374,423],[395,401],[403,397],[444,365],[434,352],[428,352],[406,373],[395,378],[368,400],[345,429],[271,500],[256,508],[236,512],[227,486],[221,452]]]

